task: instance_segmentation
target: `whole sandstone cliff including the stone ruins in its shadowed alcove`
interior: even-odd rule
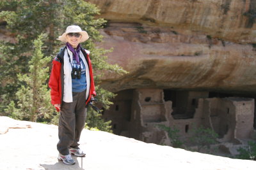
[[[157,124],[184,138],[204,125],[235,145],[254,134],[256,1],[90,2],[108,20],[99,46],[129,71],[101,84],[118,94],[103,113],[115,134],[167,145]]]

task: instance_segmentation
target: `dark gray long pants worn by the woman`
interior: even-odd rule
[[[72,92],[73,102],[62,101],[59,118],[59,142],[57,149],[61,155],[68,155],[68,147],[78,148],[81,132],[84,128],[86,111],[86,90]]]

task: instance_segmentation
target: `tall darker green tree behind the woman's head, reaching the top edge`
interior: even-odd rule
[[[106,20],[95,18],[99,15],[99,9],[83,0],[2,0],[0,2],[0,18],[7,22],[6,28],[15,35],[15,43],[1,42],[0,45],[0,71],[1,74],[1,110],[3,111],[10,101],[17,103],[15,98],[16,89],[22,86],[17,78],[17,73],[29,72],[28,62],[30,60],[31,42],[40,34],[45,34],[45,46],[42,52],[45,56],[54,57],[60,50],[60,36],[68,25],[79,25],[86,30],[90,36],[88,41],[83,43],[84,48],[90,50],[95,73],[95,85],[97,85],[97,98],[102,107],[108,108],[111,102],[109,99],[113,93],[101,89],[99,86],[100,77],[105,71],[125,73],[117,66],[106,62],[106,53],[111,50],[96,48],[95,43],[102,41],[99,29],[106,24]],[[92,114],[92,110],[88,115]],[[95,116],[93,116],[95,115]],[[97,117],[97,118],[95,118]],[[99,119],[99,114],[92,114],[88,117],[88,125],[93,124],[93,118]]]

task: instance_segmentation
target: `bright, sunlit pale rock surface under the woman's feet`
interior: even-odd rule
[[[0,169],[255,169],[252,160],[229,159],[170,146],[143,143],[101,131],[84,130],[85,158],[67,166],[56,157],[58,127],[0,117]],[[13,127],[16,127],[13,129]]]

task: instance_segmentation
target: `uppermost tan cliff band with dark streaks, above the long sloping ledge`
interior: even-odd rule
[[[229,41],[255,40],[255,0],[89,0],[101,17],[204,32]]]

